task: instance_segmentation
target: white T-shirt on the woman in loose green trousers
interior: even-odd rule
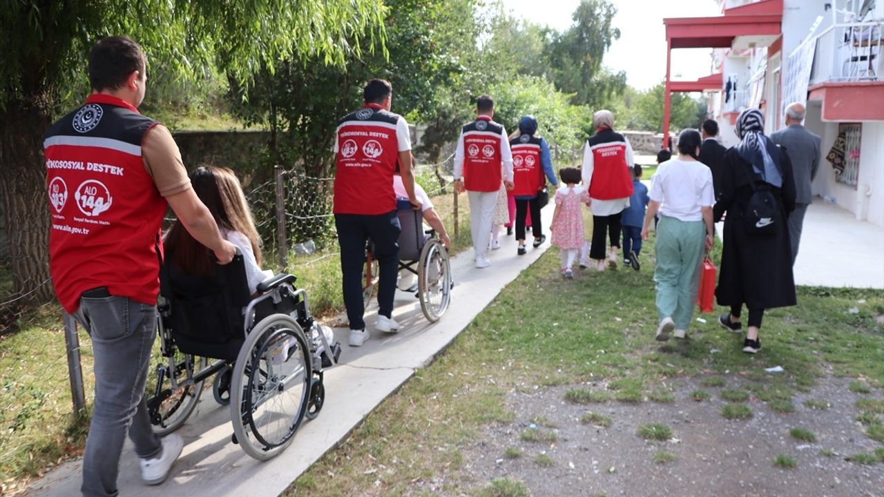
[[[715,203],[713,173],[698,161],[680,158],[659,164],[651,181],[651,200],[661,203],[660,215],[682,221],[700,221],[701,207]]]

